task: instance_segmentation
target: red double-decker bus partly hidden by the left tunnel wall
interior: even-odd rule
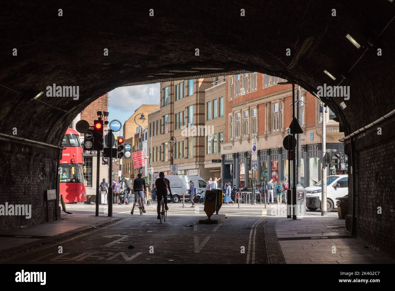
[[[63,195],[66,203],[86,201],[84,158],[79,133],[68,128],[63,137],[62,146],[66,149],[62,151],[62,159],[60,159],[60,195]]]

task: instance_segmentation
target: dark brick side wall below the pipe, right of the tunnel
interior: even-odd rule
[[[356,234],[395,257],[395,120],[378,125],[355,141],[355,215]],[[377,134],[382,128],[382,135]],[[351,157],[350,143],[345,147]],[[348,159],[351,167],[351,159]],[[349,174],[349,215],[346,228],[351,231],[352,176]],[[381,208],[381,214],[378,213]]]

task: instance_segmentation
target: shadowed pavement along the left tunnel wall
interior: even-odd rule
[[[0,232],[0,256],[98,227],[120,217],[61,214],[60,220]]]

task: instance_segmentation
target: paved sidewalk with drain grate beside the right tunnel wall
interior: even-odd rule
[[[314,212],[315,213],[315,212]],[[393,264],[363,240],[350,238],[337,216],[280,218],[276,235],[287,264]]]

